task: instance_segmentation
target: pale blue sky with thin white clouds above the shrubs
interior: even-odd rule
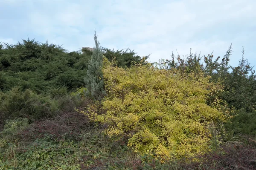
[[[245,55],[256,65],[256,0],[0,0],[0,42],[22,39],[62,45],[131,49],[148,61],[193,53]]]

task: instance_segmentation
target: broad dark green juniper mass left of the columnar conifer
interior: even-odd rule
[[[43,93],[66,86],[75,90],[83,85],[89,59],[90,56],[65,52],[61,46],[48,42],[23,40],[16,45],[6,44],[0,53],[1,89],[18,86],[22,91]]]

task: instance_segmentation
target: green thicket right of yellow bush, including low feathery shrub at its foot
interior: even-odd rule
[[[166,69],[179,69],[183,74],[203,71],[205,76],[211,76],[211,82],[221,83],[223,91],[217,96],[233,115],[233,118],[225,124],[226,128],[237,134],[252,135],[256,133],[256,124],[254,123],[256,118],[256,75],[255,70],[253,70],[254,66],[250,66],[248,60],[244,58],[244,47],[236,67],[229,65],[231,54],[232,44],[223,58],[218,56],[213,60],[212,54],[201,57],[200,54],[190,52],[182,59],[180,55],[175,58],[172,53],[172,59],[162,63],[166,64]],[[219,61],[220,59],[221,61]],[[210,103],[212,100],[209,100],[208,104]]]

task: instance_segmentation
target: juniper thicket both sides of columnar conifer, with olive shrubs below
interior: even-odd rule
[[[105,48],[102,54],[126,60],[122,63],[124,67],[140,61],[134,52]],[[21,117],[33,121],[77,107],[81,102],[79,96],[69,94],[86,85],[91,56],[92,53],[81,51],[67,52],[47,41],[0,43],[0,129],[7,119]]]

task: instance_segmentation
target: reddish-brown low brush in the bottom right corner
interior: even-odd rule
[[[256,147],[253,144],[225,144],[221,151],[197,156],[201,161],[180,162],[186,170],[256,170]]]

